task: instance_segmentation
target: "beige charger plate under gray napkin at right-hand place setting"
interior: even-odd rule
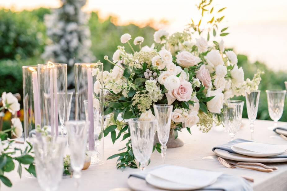
[[[240,162],[287,162],[287,158],[249,157],[242,154],[230,153],[222,149],[215,149],[214,153],[219,157]]]

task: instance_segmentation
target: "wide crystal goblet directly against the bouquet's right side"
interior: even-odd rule
[[[231,140],[238,133],[241,125],[244,101],[227,100],[223,104],[224,125],[231,136]]]

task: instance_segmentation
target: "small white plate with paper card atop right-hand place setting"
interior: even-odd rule
[[[256,142],[244,142],[232,145],[240,149],[249,150],[256,153],[283,153],[287,150],[287,145],[265,144]]]

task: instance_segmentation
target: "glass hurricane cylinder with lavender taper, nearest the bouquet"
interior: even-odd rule
[[[103,64],[75,64],[75,100],[77,121],[89,123],[87,150],[91,165],[104,163]]]

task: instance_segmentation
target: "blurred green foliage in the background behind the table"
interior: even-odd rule
[[[22,66],[43,63],[41,54],[48,43],[44,15],[51,10],[39,8],[33,11],[12,12],[11,10],[0,10],[0,93],[3,91],[20,93],[22,95]],[[104,69],[111,69],[111,65],[103,59],[105,55],[113,56],[117,46],[120,45],[120,36],[130,33],[132,37],[142,36],[145,41],[142,46],[150,46],[153,43],[155,29],[150,26],[139,28],[134,24],[126,26],[114,25],[116,18],[109,17],[101,20],[97,12],[92,12],[89,19],[92,47],[91,51],[96,60],[104,63]],[[232,34],[231,34],[232,35]],[[122,45],[122,44],[121,44]],[[137,49],[137,47],[134,47]],[[129,50],[129,47],[126,47]],[[284,81],[287,75],[282,71],[272,71],[263,63],[250,63],[245,55],[238,55],[238,65],[242,66],[245,78],[253,78],[257,69],[264,71],[259,86],[261,90],[257,119],[271,120],[267,109],[267,89],[285,89]],[[234,99],[245,100],[244,97]],[[287,121],[285,112],[280,121]],[[246,105],[244,105],[243,117],[247,118]]]

